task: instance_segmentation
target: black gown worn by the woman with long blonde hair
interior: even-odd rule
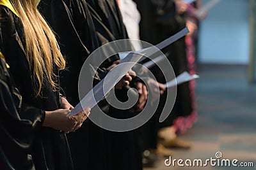
[[[48,83],[44,82],[40,97],[35,95],[35,83],[31,80],[31,71],[24,52],[24,32],[19,18],[6,6],[0,6],[0,12],[1,52],[10,65],[10,73],[20,90],[24,104],[44,111],[57,110],[60,108],[60,92],[53,92]],[[57,69],[56,74],[58,75]],[[44,111],[40,112],[41,117],[44,117]],[[35,122],[38,115],[30,112],[20,115],[20,118]],[[31,157],[36,169],[72,169],[65,133],[48,127],[38,128],[33,140]]]

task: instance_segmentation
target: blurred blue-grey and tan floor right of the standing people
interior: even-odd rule
[[[198,121],[181,139],[192,143],[191,150],[173,150],[172,159],[222,159],[253,162],[253,167],[178,167],[164,165],[164,158],[154,168],[179,169],[256,169],[256,85],[247,81],[245,66],[200,66],[197,81]]]

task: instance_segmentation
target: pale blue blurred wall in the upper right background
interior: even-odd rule
[[[209,0],[204,0],[203,4]],[[250,45],[248,0],[221,0],[200,24],[200,63],[248,64]]]

